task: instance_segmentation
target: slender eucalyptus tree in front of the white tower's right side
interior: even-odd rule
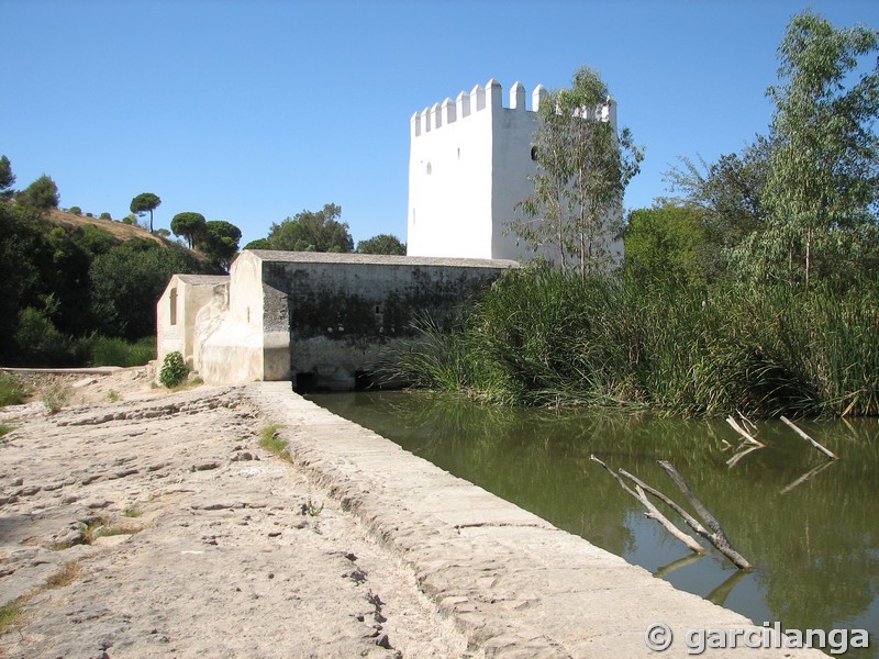
[[[570,89],[541,101],[534,134],[534,193],[519,204],[525,220],[512,230],[539,253],[559,255],[563,269],[581,278],[605,271],[614,260],[609,242],[622,230],[623,192],[643,154],[628,129],[611,121],[608,86],[583,67]]]

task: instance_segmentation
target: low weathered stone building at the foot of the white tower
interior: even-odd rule
[[[158,302],[159,358],[180,350],[216,384],[292,379],[301,389],[354,389],[385,350],[414,335],[418,316],[444,322],[518,267],[245,250],[229,278],[171,278]]]

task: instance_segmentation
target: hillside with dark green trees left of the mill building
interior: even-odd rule
[[[129,222],[58,210],[43,176],[14,191],[0,158],[0,364],[85,366],[147,337],[155,355],[156,300],[175,272],[218,273],[219,263]],[[116,355],[120,350],[116,349]],[[143,361],[142,361],[143,362]],[[125,366],[125,364],[122,364]]]

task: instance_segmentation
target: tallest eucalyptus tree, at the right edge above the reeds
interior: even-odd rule
[[[875,236],[879,191],[879,31],[835,29],[805,11],[778,49],[779,83],[764,203],[771,215],[764,254],[785,259],[791,283],[864,230]],[[870,57],[872,64],[865,64]],[[764,259],[766,260],[766,259]]]

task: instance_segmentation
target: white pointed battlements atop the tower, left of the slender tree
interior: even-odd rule
[[[521,82],[510,88],[509,104],[503,105],[503,88],[494,78],[485,87],[477,85],[469,92],[461,91],[453,101],[447,98],[442,103],[434,103],[421,112],[415,112],[410,120],[412,137],[436,131],[445,125],[466,120],[480,112],[497,110],[514,110],[536,113],[547,96],[546,88],[538,85],[531,93],[531,110],[525,108],[525,87]]]

